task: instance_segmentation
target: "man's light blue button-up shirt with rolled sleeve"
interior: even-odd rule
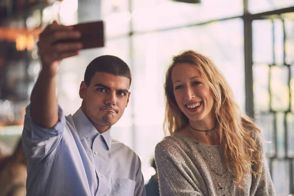
[[[32,122],[26,108],[23,147],[27,196],[146,196],[137,154],[99,134],[81,108],[51,129]]]

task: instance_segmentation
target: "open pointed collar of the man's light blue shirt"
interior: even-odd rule
[[[93,136],[95,134],[97,135],[100,134],[97,131],[96,127],[91,123],[88,117],[84,114],[81,107],[73,114],[73,123],[80,140]],[[108,150],[111,147],[110,130],[111,130],[111,127],[100,134],[103,137]]]

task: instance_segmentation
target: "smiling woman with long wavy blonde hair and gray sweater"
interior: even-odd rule
[[[165,93],[171,136],[155,148],[161,196],[275,195],[260,130],[209,58],[175,56]]]

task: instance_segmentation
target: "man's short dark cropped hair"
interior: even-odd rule
[[[128,65],[119,57],[112,55],[103,55],[95,58],[86,68],[84,81],[87,86],[96,72],[110,73],[113,75],[127,77],[132,81],[131,71]]]

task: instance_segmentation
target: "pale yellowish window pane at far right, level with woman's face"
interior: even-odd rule
[[[287,66],[270,67],[271,108],[274,111],[287,111],[290,107],[289,69]]]

